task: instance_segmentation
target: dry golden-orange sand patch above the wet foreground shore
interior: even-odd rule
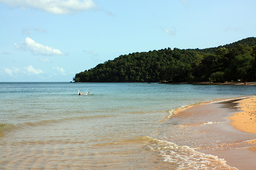
[[[237,130],[256,134],[256,97],[245,98],[237,101],[242,112],[229,117]]]

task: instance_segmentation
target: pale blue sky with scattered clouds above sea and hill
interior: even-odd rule
[[[0,82],[70,82],[133,52],[256,37],[255,0],[0,0]]]

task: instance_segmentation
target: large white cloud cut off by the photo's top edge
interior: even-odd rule
[[[34,8],[52,14],[70,14],[96,7],[92,0],[0,0],[12,7]]]

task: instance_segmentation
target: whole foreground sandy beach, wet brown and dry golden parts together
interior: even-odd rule
[[[182,126],[205,136],[188,145],[196,151],[223,158],[239,170],[256,170],[256,97],[188,107],[177,114]],[[192,143],[193,142],[193,143]],[[183,143],[181,143],[183,144]]]

